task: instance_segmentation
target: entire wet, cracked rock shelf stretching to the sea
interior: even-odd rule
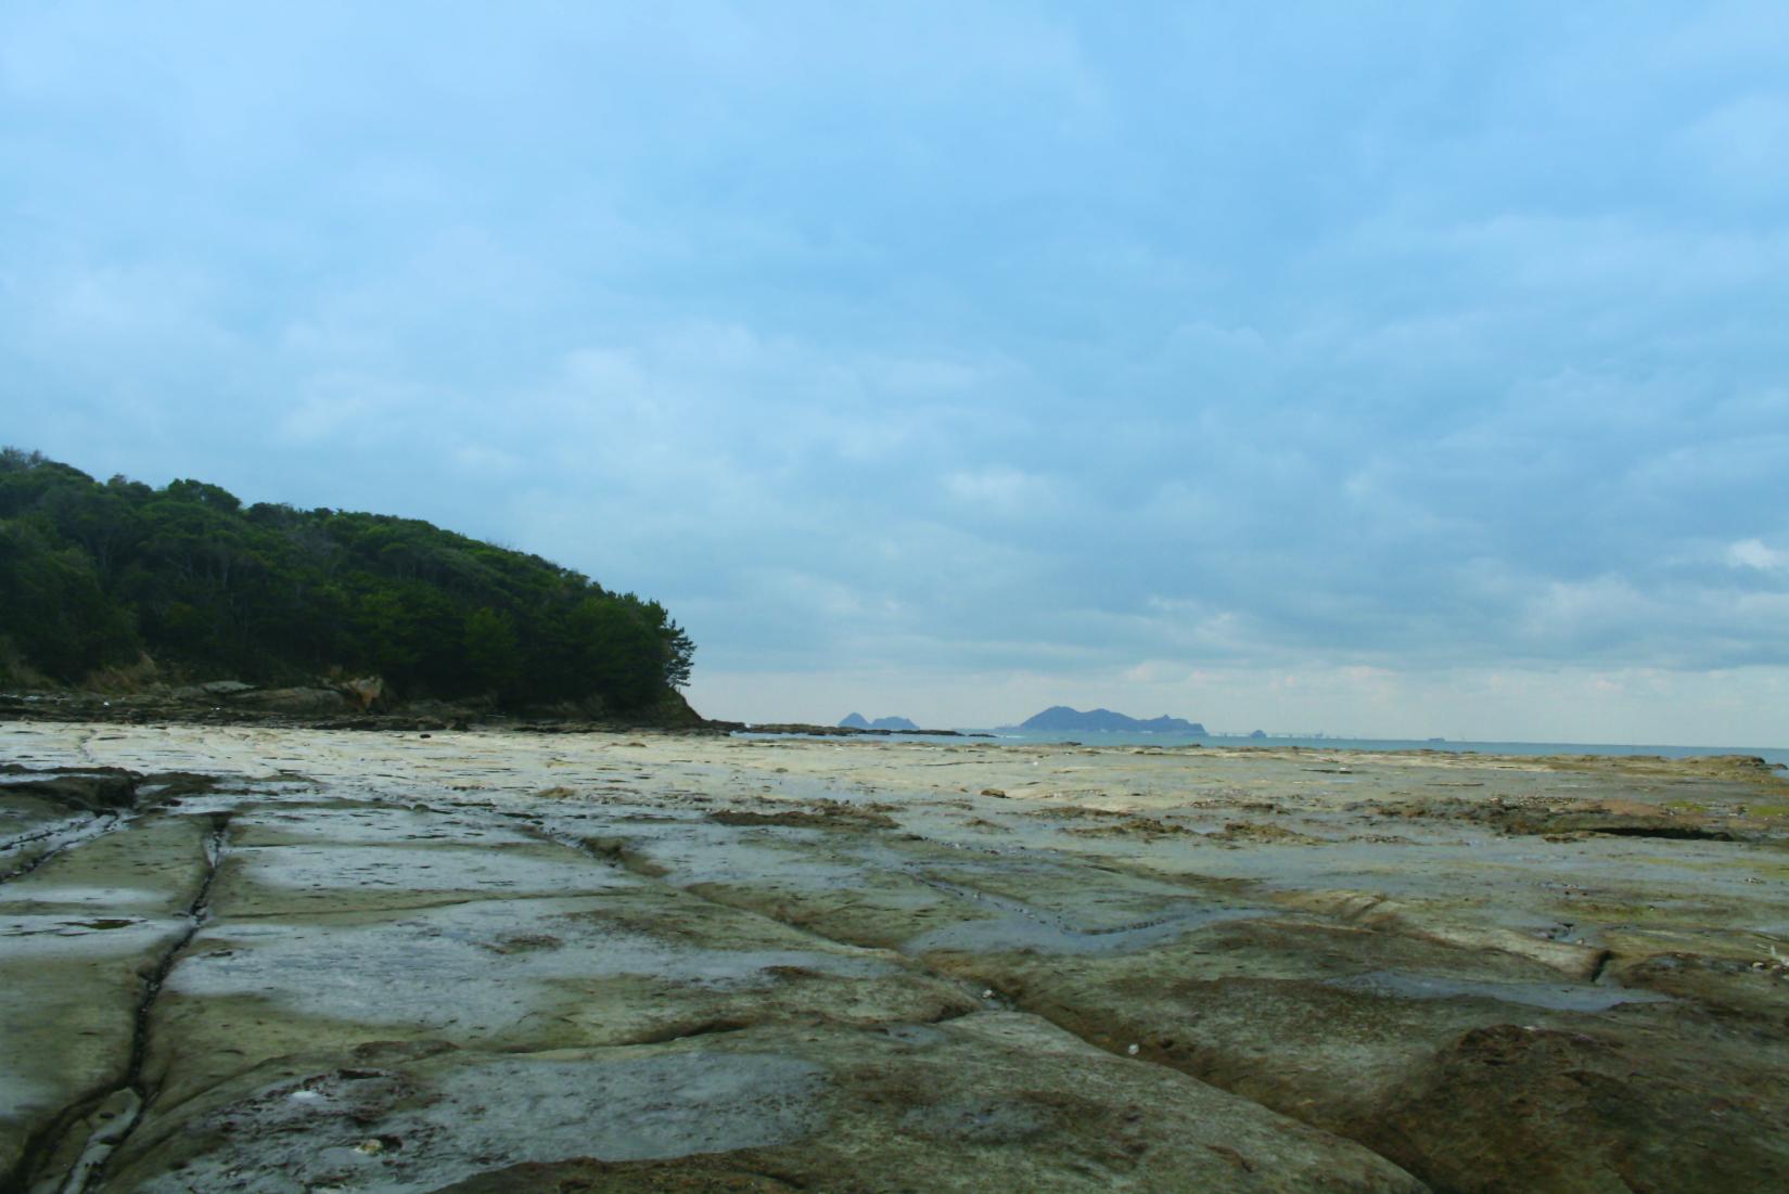
[[[1789,1187],[1748,760],[0,749],[0,1190]]]

